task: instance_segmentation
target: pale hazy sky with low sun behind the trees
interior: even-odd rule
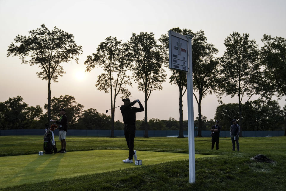
[[[29,106],[47,103],[47,81],[37,77],[37,66],[21,65],[18,57],[8,57],[8,46],[14,38],[29,35],[28,31],[45,24],[74,35],[77,45],[83,46],[79,65],[74,61],[63,63],[66,74],[59,77],[58,83],[52,82],[52,97],[72,95],[85,109],[95,108],[100,113],[110,109],[110,94],[97,90],[95,83],[101,69],[85,72],[84,61],[88,55],[96,52],[97,46],[108,36],[126,42],[132,32],[153,32],[159,39],[172,27],[205,31],[208,43],[219,50],[217,56],[225,51],[224,39],[234,31],[249,33],[259,47],[263,34],[286,38],[286,1],[284,0],[208,0],[208,1],[40,1],[40,0],[0,0],[0,102],[17,95],[24,98]],[[169,69],[165,69],[170,77]],[[131,100],[144,101],[144,93],[137,90],[136,83],[129,89]],[[148,119],[179,119],[178,87],[170,85],[169,80],[163,84],[163,90],[153,91],[148,100]],[[183,98],[184,120],[187,119],[186,94]],[[224,103],[237,103],[238,98],[223,98]],[[116,105],[122,105],[120,97]],[[285,99],[279,100],[281,106]],[[137,105],[137,104],[136,104]],[[135,106],[136,106],[135,105]],[[144,105],[144,104],[143,104]],[[202,115],[214,118],[219,105],[217,98],[206,96],[202,101]],[[137,105],[138,106],[138,105]],[[198,116],[198,107],[194,100],[194,117]],[[109,111],[110,112],[110,111]],[[108,113],[110,114],[110,113]],[[144,112],[137,114],[143,119]],[[122,121],[119,108],[115,120]]]

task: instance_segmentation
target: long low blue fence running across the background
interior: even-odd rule
[[[44,129],[10,129],[0,130],[0,136],[8,135],[44,135]],[[55,130],[55,135],[58,134],[58,130]],[[69,129],[67,131],[68,136],[110,136],[111,130],[79,130]],[[165,136],[178,136],[179,131],[148,131],[150,137],[165,137]],[[195,136],[198,135],[198,131],[195,131]],[[266,136],[283,136],[284,131],[243,131],[244,137],[266,137]],[[124,136],[123,130],[114,130],[114,136]],[[144,131],[136,131],[137,137],[143,137]],[[188,131],[184,131],[184,136],[188,136]],[[210,137],[210,131],[202,131],[203,137]],[[221,137],[229,137],[229,131],[220,131]]]

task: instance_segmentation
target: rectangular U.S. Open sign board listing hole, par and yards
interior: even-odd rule
[[[169,68],[188,72],[188,40],[169,31]]]

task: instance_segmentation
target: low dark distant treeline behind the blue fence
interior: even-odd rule
[[[59,119],[59,108],[66,109],[69,119],[69,129],[111,129],[111,117],[90,108],[83,110],[83,105],[77,103],[73,96],[65,95],[51,100],[52,119]],[[46,105],[44,106],[46,110]],[[244,131],[281,131],[283,130],[284,112],[277,101],[255,100],[243,105]],[[228,131],[232,119],[238,118],[238,103],[221,104],[217,107],[215,119],[202,117],[202,130],[209,130],[220,121],[222,131]],[[47,123],[47,114],[39,105],[28,106],[21,96],[9,98],[0,102],[0,128],[4,129],[41,129]],[[136,120],[136,129],[144,130],[144,119]],[[198,117],[194,121],[195,130],[198,127]],[[188,129],[188,121],[183,121],[184,131]],[[115,121],[114,129],[123,130],[124,124]],[[148,130],[179,130],[179,121],[172,117],[168,120],[151,118],[148,120]]]

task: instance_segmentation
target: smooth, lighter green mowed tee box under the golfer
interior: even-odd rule
[[[74,177],[79,175],[107,172],[125,168],[140,167],[133,163],[123,163],[126,150],[88,150],[74,151],[53,155],[21,155],[0,157],[0,188],[53,180],[58,177]],[[138,159],[142,166],[162,162],[185,160],[189,155],[184,153],[168,153],[138,151]],[[140,157],[141,156],[141,157]],[[212,156],[212,155],[211,155]],[[210,155],[196,155],[210,157]]]

